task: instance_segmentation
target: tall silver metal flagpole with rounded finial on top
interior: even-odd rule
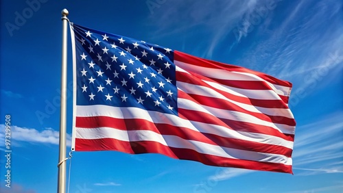
[[[58,158],[58,193],[66,190],[66,133],[67,133],[67,25],[69,12],[62,10],[62,75],[60,107],[60,155]]]

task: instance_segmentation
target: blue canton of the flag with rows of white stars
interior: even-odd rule
[[[174,52],[73,25],[77,105],[140,107],[178,114]]]

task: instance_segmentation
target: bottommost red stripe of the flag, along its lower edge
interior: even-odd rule
[[[230,159],[215,155],[198,153],[191,149],[179,149],[164,146],[158,142],[123,142],[111,138],[84,140],[75,138],[75,151],[121,151],[123,153],[160,153],[176,159],[187,159],[209,166],[246,168],[251,170],[268,170],[292,173],[292,166],[270,162],[256,162],[244,159]]]

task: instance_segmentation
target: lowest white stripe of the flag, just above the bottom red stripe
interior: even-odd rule
[[[292,158],[284,155],[273,153],[259,153],[255,151],[245,151],[240,149],[231,149],[213,144],[206,144],[194,140],[185,140],[178,136],[161,135],[154,131],[138,130],[138,131],[122,131],[108,127],[99,127],[95,129],[76,128],[76,138],[82,139],[102,139],[113,138],[125,142],[141,142],[152,141],[158,142],[165,146],[170,146],[179,149],[193,149],[198,153],[207,155],[215,155],[230,159],[248,159],[258,162],[272,162],[278,164],[292,165]]]

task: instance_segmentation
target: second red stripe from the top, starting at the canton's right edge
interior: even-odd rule
[[[224,95],[224,97],[226,97],[226,99],[231,99],[231,100],[237,101],[239,103],[244,103],[247,105],[253,105],[253,106],[257,106],[257,107],[288,109],[288,106],[285,103],[285,101],[287,101],[287,100],[285,99],[284,96],[279,95],[279,97],[281,99],[285,99],[282,101],[279,99],[274,99],[274,100],[268,99],[268,100],[266,100],[266,99],[249,99],[247,97],[239,97],[237,95],[230,94],[228,92],[224,92],[222,90],[214,88],[213,86],[210,86],[208,83],[201,81],[201,79],[202,79],[201,77],[199,79],[194,78],[194,77],[199,77],[199,76],[200,75],[189,75],[187,73],[176,72],[177,81],[182,81],[185,83],[191,83],[194,85],[205,86],[205,87],[211,88],[211,89],[215,90],[216,92]],[[205,79],[206,81],[211,81],[211,79],[208,79],[206,77],[203,77],[203,79]]]

